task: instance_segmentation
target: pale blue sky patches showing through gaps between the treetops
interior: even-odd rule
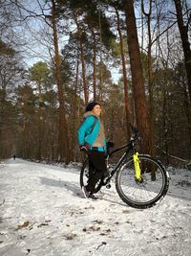
[[[41,10],[39,8],[38,2],[43,6],[44,5],[44,0],[40,0],[40,1],[29,1],[29,0],[24,0],[21,3],[23,3],[24,7],[28,10],[31,10],[32,12],[36,12],[36,13],[41,13]],[[157,3],[159,3],[159,1],[157,1]],[[190,4],[190,1],[187,1],[187,4]],[[163,4],[159,4],[159,8],[162,6],[162,12],[161,12],[161,17],[164,15],[164,20],[163,22],[166,22],[166,24],[162,25],[164,26],[164,30],[165,30],[165,26],[168,26],[170,23],[169,22],[173,22],[176,18],[175,14],[173,14],[174,11],[174,4],[173,3],[168,3],[168,2],[163,2]],[[49,4],[44,6],[44,10],[45,13],[49,13]],[[147,49],[147,39],[148,39],[148,33],[147,33],[147,29],[146,29],[146,25],[145,28],[143,30],[143,35],[142,35],[142,30],[140,29],[140,11],[139,11],[139,6],[137,6],[137,8],[135,9],[136,14],[138,16],[138,38],[139,38],[139,43],[141,42],[141,37],[143,36],[143,48],[144,50]],[[22,11],[24,15],[29,15],[28,12]],[[148,6],[147,4],[145,4],[145,12],[148,12]],[[156,12],[156,10],[153,10],[153,12]],[[158,10],[159,12],[159,10]],[[166,12],[166,13],[165,13]],[[154,13],[155,14],[155,13]],[[171,20],[172,19],[172,20]],[[26,63],[27,66],[31,67],[35,62],[37,61],[49,61],[51,59],[50,57],[50,47],[53,48],[53,43],[51,42],[51,37],[50,39],[47,39],[47,42],[45,42],[44,39],[44,35],[43,34],[43,30],[44,30],[44,25],[45,22],[42,22],[42,19],[36,19],[36,18],[28,18],[28,25],[25,26],[18,26],[16,27],[17,32],[19,32],[19,35],[26,40],[27,44],[26,47],[23,47],[21,49],[21,51],[23,52],[23,57],[24,57],[24,61]],[[66,21],[64,21],[66,22]],[[153,27],[156,27],[156,20],[154,19],[153,21]],[[168,24],[169,23],[169,24]],[[24,25],[24,23],[23,23]],[[66,24],[65,24],[66,25]],[[161,26],[161,27],[162,27]],[[73,26],[69,26],[70,27],[70,31],[74,31],[74,25]],[[175,26],[176,27],[176,26]],[[177,27],[176,27],[177,28]],[[45,29],[46,32],[48,32],[48,27]],[[160,32],[162,31],[162,28],[160,28]],[[175,32],[173,30],[170,31],[170,35],[173,35],[173,39],[170,42],[171,44],[174,43],[175,39],[174,39],[174,34]],[[171,36],[168,35],[168,37],[170,38]],[[156,37],[156,32],[155,29],[152,29],[152,37],[153,39]],[[46,36],[45,36],[46,37]],[[160,41],[159,41],[159,45],[160,45],[160,49],[162,48],[163,51],[163,55],[165,56],[166,54],[166,35],[161,36]],[[178,34],[179,37],[179,34]],[[64,45],[68,42],[68,35],[64,35],[64,33],[62,32],[61,35],[59,35],[59,48],[61,50],[61,48],[64,47]],[[153,52],[156,55],[156,46],[157,45],[153,45]],[[176,48],[176,46],[174,46]],[[48,49],[49,48],[49,49]],[[52,49],[53,50],[53,49]],[[177,48],[175,49],[177,50]],[[166,54],[167,55],[167,54]],[[128,72],[130,73],[130,70],[128,70]],[[119,68],[114,68],[112,70],[112,79],[114,82],[117,83],[117,81],[119,80],[119,78],[121,77],[121,74],[119,73]]]

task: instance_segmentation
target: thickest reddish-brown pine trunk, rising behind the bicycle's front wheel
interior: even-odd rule
[[[151,152],[150,141],[150,127],[149,116],[146,105],[144,80],[142,74],[142,67],[140,62],[140,53],[138,46],[138,32],[136,27],[136,16],[134,12],[134,1],[123,0],[126,24],[127,24],[127,43],[129,48],[132,84],[133,84],[133,97],[135,101],[136,119],[138,129],[143,137],[143,145],[141,151]]]

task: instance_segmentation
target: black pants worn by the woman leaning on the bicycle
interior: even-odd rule
[[[95,192],[96,182],[107,173],[105,152],[90,151],[89,153],[89,179],[87,191]]]

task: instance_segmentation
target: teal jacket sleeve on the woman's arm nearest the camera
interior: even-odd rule
[[[81,126],[78,128],[77,135],[78,135],[78,143],[80,146],[84,145],[86,133],[93,126],[93,124],[94,124],[94,117],[87,116],[82,122]]]

